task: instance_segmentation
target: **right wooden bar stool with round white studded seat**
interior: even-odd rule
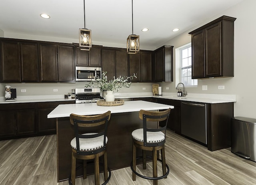
[[[132,180],[136,181],[136,175],[144,179],[153,180],[153,185],[158,184],[159,179],[167,178],[169,174],[169,167],[165,161],[164,143],[165,143],[165,133],[166,125],[170,115],[170,110],[164,111],[145,111],[140,110],[139,117],[143,121],[143,128],[136,129],[132,132],[132,143],[133,143],[133,153],[132,153]],[[164,127],[157,129],[150,129],[147,127],[148,122],[152,121],[164,121],[166,124]],[[136,148],[142,149],[142,156],[136,157]],[[161,150],[161,159],[157,157],[157,151]],[[153,151],[153,157],[146,156],[145,151]],[[147,177],[136,172],[136,160],[143,158],[143,169],[146,169],[146,158],[153,158],[153,177]],[[157,176],[157,161],[162,162],[163,175]],[[167,168],[167,171],[166,171]]]

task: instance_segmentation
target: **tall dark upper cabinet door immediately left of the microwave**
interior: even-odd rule
[[[74,48],[58,45],[58,81],[75,82]]]

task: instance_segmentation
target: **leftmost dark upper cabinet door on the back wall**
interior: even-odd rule
[[[1,42],[2,82],[20,82],[20,45],[18,42]]]

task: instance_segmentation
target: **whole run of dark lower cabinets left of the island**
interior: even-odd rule
[[[72,103],[0,103],[0,140],[56,134],[56,119],[47,115],[60,104]]]

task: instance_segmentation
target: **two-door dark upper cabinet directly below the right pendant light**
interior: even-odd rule
[[[152,52],[140,51],[136,54],[129,54],[129,75],[137,74],[132,82],[152,82]]]

